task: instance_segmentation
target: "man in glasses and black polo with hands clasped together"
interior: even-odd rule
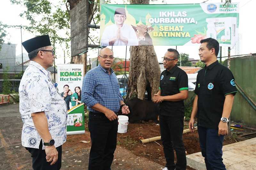
[[[184,102],[188,98],[188,75],[177,67],[179,52],[168,49],[164,54],[164,70],[161,73],[159,92],[153,101],[160,102],[160,132],[164,145],[166,167],[163,170],[185,170],[187,166],[186,153],[182,141]],[[176,151],[177,163],[174,164]]]

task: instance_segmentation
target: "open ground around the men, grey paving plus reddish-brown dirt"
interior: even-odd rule
[[[62,146],[61,169],[87,169],[88,167],[91,139],[88,132],[88,119],[85,120],[85,134],[68,135],[67,142]],[[32,169],[30,154],[21,146],[22,126],[19,104],[0,106],[0,169]],[[129,124],[127,133],[118,134],[118,146],[111,169],[162,169],[165,165],[165,159],[161,140],[156,141],[157,143],[140,143],[142,137],[146,139],[160,136],[159,128],[155,122]],[[185,122],[184,129],[187,128],[188,122]],[[231,139],[225,140],[224,144],[248,139],[248,136],[241,138],[239,135],[256,132],[255,128],[251,129],[233,130]],[[255,137],[255,133],[250,137]],[[200,152],[197,132],[184,134],[183,139],[187,154]],[[88,141],[89,143],[80,141]],[[188,167],[187,169],[192,168]]]

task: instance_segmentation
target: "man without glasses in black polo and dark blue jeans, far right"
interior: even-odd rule
[[[189,129],[194,131],[195,116],[200,147],[207,170],[226,169],[222,162],[222,143],[228,134],[228,118],[237,92],[231,71],[217,60],[219,42],[212,38],[200,41],[199,56],[205,67],[196,78],[196,97]]]

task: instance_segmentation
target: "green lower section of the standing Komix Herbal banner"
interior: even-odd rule
[[[85,133],[84,103],[68,110],[67,135]]]

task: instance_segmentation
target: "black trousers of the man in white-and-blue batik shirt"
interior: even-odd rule
[[[62,153],[62,145],[57,147],[58,151],[58,160],[54,165],[51,165],[51,162],[46,161],[46,154],[45,150],[42,150],[42,140],[39,144],[39,149],[36,148],[27,148],[25,147],[28,152],[31,154],[32,157],[32,168],[34,170],[59,170],[61,168],[61,153]]]

